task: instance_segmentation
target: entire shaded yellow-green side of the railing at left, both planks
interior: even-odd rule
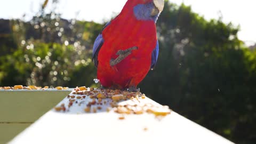
[[[13,139],[71,90],[0,90],[0,143]]]

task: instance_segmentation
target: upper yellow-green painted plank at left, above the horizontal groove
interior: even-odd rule
[[[0,91],[0,123],[33,123],[65,98],[70,90]]]

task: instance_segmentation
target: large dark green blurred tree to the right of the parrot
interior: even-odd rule
[[[167,1],[157,28],[159,59],[141,90],[223,137],[255,142],[255,52],[239,28]]]

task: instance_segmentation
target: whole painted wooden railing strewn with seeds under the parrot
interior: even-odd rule
[[[139,93],[71,90],[1,90],[0,143],[232,143]]]

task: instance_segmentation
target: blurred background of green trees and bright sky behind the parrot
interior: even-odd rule
[[[1,6],[0,86],[98,87],[93,81],[93,42],[125,0],[84,2],[82,7],[74,7],[76,1],[38,0],[31,10],[22,8],[28,7],[22,5],[26,1]],[[216,1],[213,7],[226,3],[224,12],[237,9],[234,24],[221,11],[213,19],[205,18],[204,11],[193,11],[193,4],[202,9],[206,2],[186,2],[165,1],[157,22],[157,66],[140,90],[233,142],[256,143],[256,39],[255,29],[248,28],[255,21],[244,20],[254,10],[246,11],[246,1]],[[118,8],[105,12],[108,5]],[[83,9],[89,11],[81,14]]]

